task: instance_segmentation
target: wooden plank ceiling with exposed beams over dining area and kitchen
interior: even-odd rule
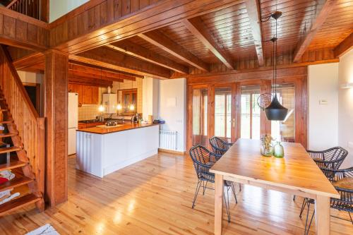
[[[85,13],[90,11],[90,6],[94,12],[103,16],[104,11],[109,9],[102,8],[99,4],[116,1],[97,2],[96,5],[86,4],[76,11]],[[142,6],[141,3],[145,1],[129,2],[140,2],[138,6]],[[150,30],[136,30],[136,33],[121,37],[120,40],[117,37],[111,37],[110,41],[104,38],[107,43],[84,52],[73,51],[69,53],[69,59],[76,63],[85,63],[86,66],[102,66],[114,73],[155,78],[270,68],[273,61],[273,43],[269,40],[275,35],[275,20],[270,18],[270,15],[275,11],[282,12],[277,21],[277,62],[280,66],[337,61],[337,56],[342,54],[340,52],[345,52],[353,44],[353,0],[192,2],[193,5],[185,4],[178,15],[170,16],[169,11],[172,10],[168,10],[165,12],[169,15],[165,13],[163,18],[161,13],[162,16],[155,19],[155,23],[150,22],[150,25],[156,25],[155,28],[150,26]],[[131,11],[131,18],[142,18],[149,10],[155,8],[155,11],[160,11],[160,8],[167,7],[167,4],[172,3],[156,1],[149,6],[147,4],[145,8],[136,8],[139,11],[136,10],[136,14]],[[97,6],[100,6],[100,11],[95,11]],[[196,11],[196,6],[199,6],[197,12],[190,13]],[[177,14],[175,11],[173,13]],[[125,20],[129,19],[128,16],[125,17]],[[173,21],[171,17],[176,20]],[[166,20],[164,25],[160,22],[161,18]],[[69,16],[64,20],[69,21]],[[64,20],[55,22],[55,32],[58,32],[58,25]],[[112,30],[113,26],[108,26]],[[118,32],[119,30],[116,30],[117,36]],[[15,49],[11,51],[13,55],[21,54],[14,52]],[[22,56],[15,56],[14,60]],[[20,69],[41,70],[40,63],[33,65],[28,61],[28,66],[22,66]]]

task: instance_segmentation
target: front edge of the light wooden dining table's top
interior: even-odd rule
[[[267,184],[267,185],[270,185],[270,186],[276,186],[276,187],[280,187],[280,188],[287,188],[287,189],[293,190],[293,191],[303,191],[305,193],[311,193],[311,194],[315,194],[315,195],[323,195],[323,196],[327,196],[327,197],[330,197],[330,198],[337,198],[337,199],[341,198],[340,193],[338,193],[335,190],[335,187],[333,187],[335,193],[329,193],[329,192],[324,192],[324,191],[313,190],[313,189],[310,189],[310,188],[301,188],[301,187],[298,187],[298,186],[289,186],[289,185],[284,184],[284,183],[276,183],[276,182],[273,182],[273,181],[265,181],[265,180],[261,180],[261,179],[254,179],[254,178],[251,178],[251,177],[240,176],[240,175],[237,175],[237,174],[229,174],[227,172],[217,171],[215,169],[210,169],[210,172],[213,173],[213,174],[221,174],[223,176],[231,176],[232,178],[238,178],[238,179],[245,180],[245,181],[251,181],[251,182],[255,182],[255,183],[263,183],[263,184]]]

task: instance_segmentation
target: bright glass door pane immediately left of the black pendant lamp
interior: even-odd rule
[[[260,139],[259,85],[241,87],[241,138]]]

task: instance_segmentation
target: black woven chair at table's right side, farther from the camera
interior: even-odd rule
[[[307,152],[320,169],[338,169],[348,155],[348,151],[343,147],[331,147],[323,151],[307,150]]]

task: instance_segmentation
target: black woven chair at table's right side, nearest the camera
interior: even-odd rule
[[[333,183],[338,193],[340,193],[340,199],[330,198],[330,207],[337,210],[343,210],[348,212],[350,222],[353,224],[351,212],[353,212],[353,167],[348,169],[328,169],[322,168],[323,174],[328,177],[328,180]],[[313,215],[315,214],[315,210],[313,211],[313,215],[311,215],[311,219],[308,223],[309,217],[309,208],[311,204],[314,204],[315,200],[311,198],[305,198],[303,204],[301,205],[301,211],[299,217],[301,217],[305,206],[307,205],[308,211],[306,212],[306,222],[305,222],[305,234],[309,233],[309,229],[311,226],[311,222],[313,221]],[[337,217],[338,219],[342,219]],[[346,220],[346,219],[345,219]]]

